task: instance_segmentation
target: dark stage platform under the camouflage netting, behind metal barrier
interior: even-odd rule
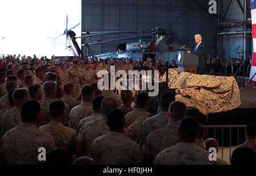
[[[201,114],[197,109],[188,109],[187,115],[196,118],[199,123],[204,126],[218,126],[218,125],[246,125],[247,123],[256,124],[256,88],[240,89],[241,106],[240,108],[233,109],[226,112],[209,114],[208,116]],[[224,128],[223,143],[224,146],[230,144],[230,131],[231,131],[231,144],[236,146],[245,141],[245,129],[240,128]],[[215,135],[214,135],[215,133]],[[239,135],[239,136],[238,136]],[[218,140],[219,144],[222,141],[222,129],[217,128],[214,132],[213,129],[208,131],[208,138],[212,137]]]

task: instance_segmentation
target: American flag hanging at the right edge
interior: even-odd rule
[[[251,0],[251,24],[253,25],[253,61],[251,62],[250,78],[256,72],[256,0]],[[253,78],[253,84],[256,86],[256,75]]]

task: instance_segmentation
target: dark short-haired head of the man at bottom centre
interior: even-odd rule
[[[112,109],[107,115],[109,130],[121,130],[125,123],[125,115],[120,109]]]

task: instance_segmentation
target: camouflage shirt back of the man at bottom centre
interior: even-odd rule
[[[96,164],[142,164],[141,147],[121,132],[110,131],[95,139],[90,151]]]

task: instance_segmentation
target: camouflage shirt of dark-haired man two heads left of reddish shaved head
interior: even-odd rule
[[[68,118],[68,126],[77,131],[81,119],[92,114],[92,104],[82,102],[80,105],[77,105],[71,110]]]

